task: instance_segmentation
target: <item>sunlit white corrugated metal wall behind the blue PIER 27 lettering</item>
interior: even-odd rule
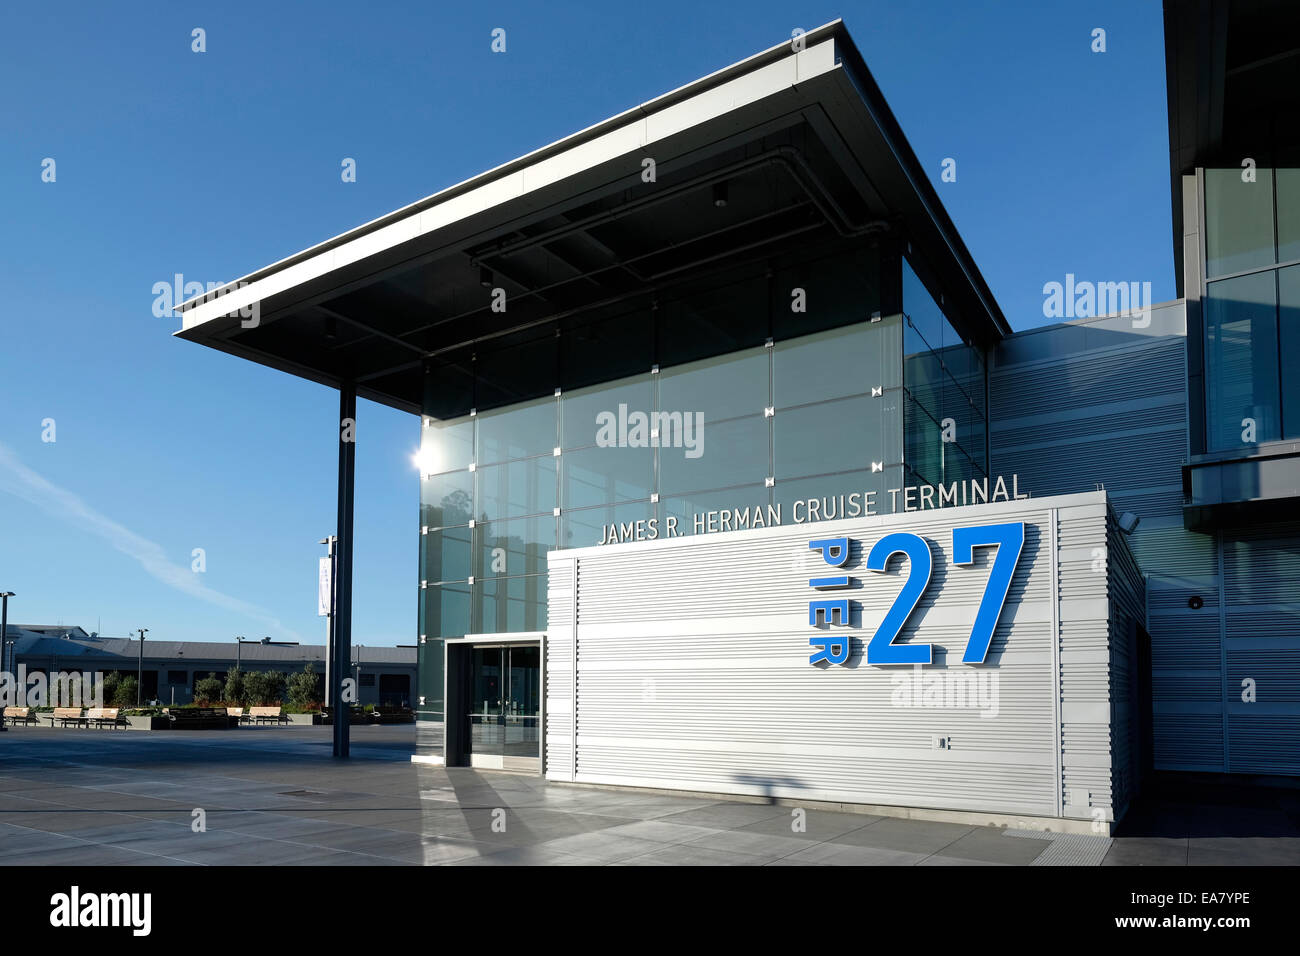
[[[1092,567],[1105,545],[1101,496],[1070,499],[1061,522],[1054,607],[1050,503],[823,522],[550,555],[547,767],[554,779],[758,793],[944,809],[1056,816],[1062,770],[1079,805],[1067,816],[1109,813],[1110,688],[1106,575]],[[1086,502],[1086,503],[1080,503]],[[1028,523],[1024,551],[989,650],[993,667],[961,663],[984,591],[991,549],[976,568],[950,564],[952,528]],[[933,643],[924,675],[998,678],[998,713],[902,708],[900,671],[868,667],[864,641],[901,587],[861,568],[888,531],[924,536],[931,587],[904,641]],[[807,662],[807,579],[822,566],[807,541],[846,533],[848,572],[861,619],[846,666]],[[572,580],[577,566],[577,767],[572,763]],[[824,566],[822,566],[824,567]],[[889,579],[883,580],[883,579]],[[567,584],[566,584],[567,583]],[[1065,618],[1060,646],[1053,620]],[[1054,676],[1060,657],[1062,679]],[[1058,698],[1058,693],[1061,697]],[[1066,743],[1058,743],[1058,711]],[[952,749],[933,748],[933,737]],[[1091,795],[1091,796],[1089,796]],[[1091,805],[1089,805],[1091,804]]]

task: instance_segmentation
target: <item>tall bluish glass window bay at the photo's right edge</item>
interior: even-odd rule
[[[1205,170],[1208,451],[1300,437],[1300,170]]]

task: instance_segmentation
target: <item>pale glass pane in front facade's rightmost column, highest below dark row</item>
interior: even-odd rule
[[[772,403],[777,408],[898,384],[898,321],[849,325],[777,342]]]

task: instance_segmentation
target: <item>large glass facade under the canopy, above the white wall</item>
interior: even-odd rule
[[[792,523],[807,499],[832,518],[841,494],[983,476],[983,356],[901,264],[837,251],[534,330],[533,394],[495,408],[477,380],[506,397],[507,350],[460,360],[468,389],[436,371],[420,453],[425,711],[441,711],[443,639],[545,630],[555,548],[651,520],[690,535],[710,511],[780,507]],[[884,304],[901,300],[910,317]],[[456,401],[464,414],[434,414]]]

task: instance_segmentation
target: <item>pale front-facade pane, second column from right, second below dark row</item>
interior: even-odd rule
[[[679,494],[762,481],[770,460],[767,425],[763,415],[715,424],[706,414],[694,450],[659,450],[659,492]],[[688,453],[698,454],[688,458]]]

